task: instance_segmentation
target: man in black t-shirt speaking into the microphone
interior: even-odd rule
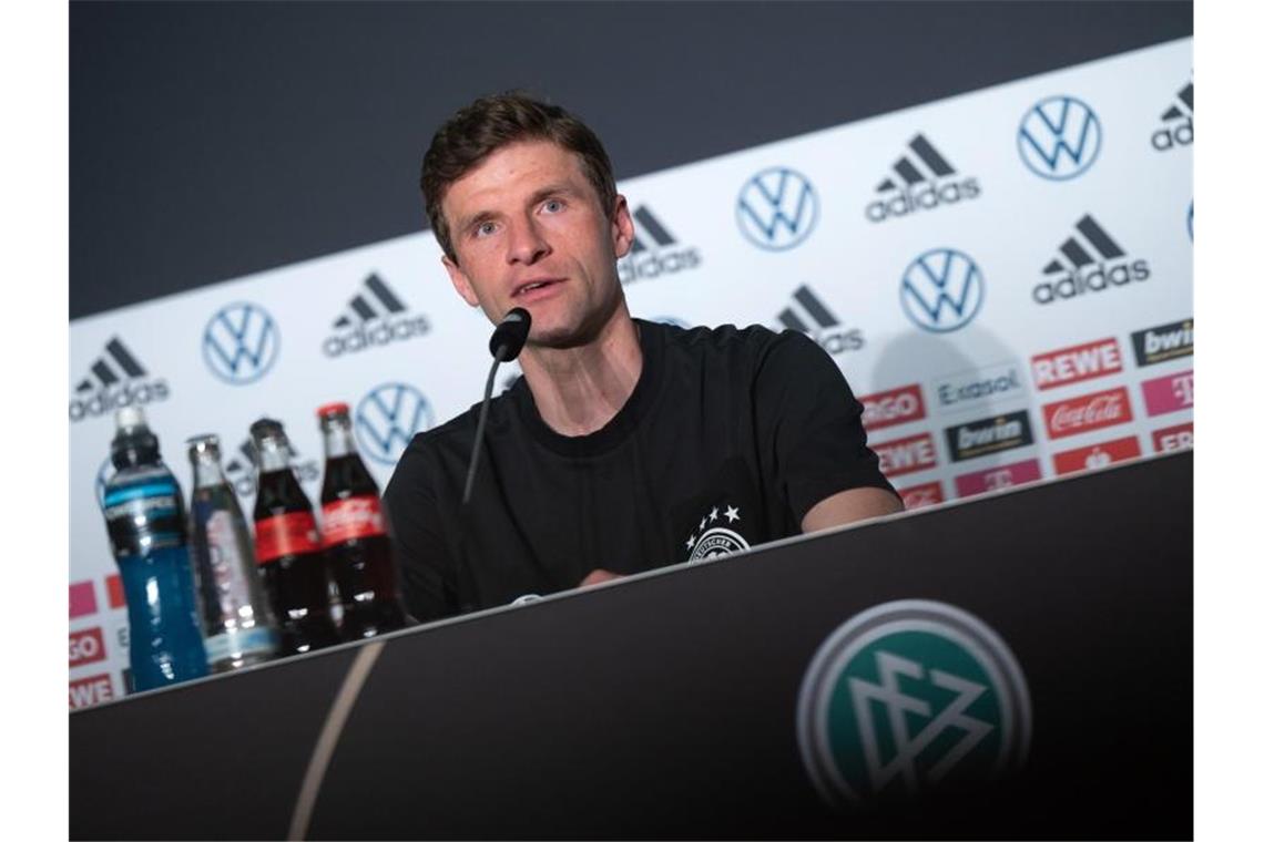
[[[588,126],[475,101],[422,164],[458,294],[531,313],[522,379],[413,438],[384,499],[410,610],[431,620],[899,511],[862,408],[801,333],[633,319],[616,261],[627,199]]]

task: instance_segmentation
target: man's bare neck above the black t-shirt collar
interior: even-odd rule
[[[588,436],[605,427],[632,395],[642,361],[638,328],[626,308],[588,345],[532,346],[520,357],[540,418],[562,436]]]

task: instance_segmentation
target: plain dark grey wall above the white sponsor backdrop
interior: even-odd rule
[[[437,125],[526,87],[618,178],[1193,33],[1192,3],[90,3],[70,316],[427,227]]]

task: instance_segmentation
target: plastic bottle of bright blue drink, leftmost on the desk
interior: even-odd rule
[[[206,675],[185,501],[139,406],[114,417],[105,524],[128,601],[131,678],[148,691]]]

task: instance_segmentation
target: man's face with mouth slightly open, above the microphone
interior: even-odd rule
[[[614,263],[632,246],[627,201],[608,217],[579,155],[557,144],[498,149],[447,188],[442,208],[456,292],[493,323],[526,308],[532,345],[588,342],[623,300]]]

